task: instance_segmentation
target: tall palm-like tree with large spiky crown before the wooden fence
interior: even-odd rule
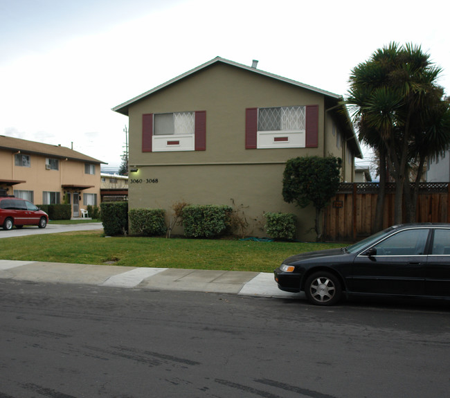
[[[439,73],[440,69],[433,66],[420,46],[391,43],[375,51],[370,60],[359,64],[350,75],[346,103],[354,108],[354,120],[362,127],[359,134],[366,142],[374,141],[374,134],[379,136],[375,149],[386,154],[396,182],[396,224],[403,221],[404,192],[407,201],[411,201],[408,189],[411,151],[416,141],[420,145],[418,138],[433,124],[429,109],[436,105]],[[433,140],[447,140],[442,129],[436,132],[439,138],[425,135]],[[434,148],[434,143],[428,143],[429,148]]]

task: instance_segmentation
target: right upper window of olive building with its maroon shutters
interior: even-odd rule
[[[247,108],[246,149],[318,146],[318,105]]]

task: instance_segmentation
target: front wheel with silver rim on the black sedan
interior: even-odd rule
[[[334,305],[341,298],[341,282],[330,272],[313,273],[305,283],[307,299],[314,305]]]

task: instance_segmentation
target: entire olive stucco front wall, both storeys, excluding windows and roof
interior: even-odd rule
[[[246,150],[246,108],[296,105],[318,105],[318,147]],[[142,152],[143,114],[177,111],[206,111],[206,151]],[[282,172],[297,156],[342,157],[324,129],[321,93],[214,64],[129,107],[129,165],[139,170],[129,175],[129,207],[163,208],[169,216],[177,201],[231,205],[233,199],[251,223],[248,235],[265,236],[263,213],[280,211],[298,215],[299,239],[314,239],[314,209],[283,201]]]

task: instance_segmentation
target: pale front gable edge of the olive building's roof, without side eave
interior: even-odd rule
[[[331,98],[334,98],[336,100],[340,100],[341,99],[341,96],[339,96],[338,94],[330,93],[330,91],[317,89],[316,87],[312,87],[312,86],[308,86],[307,84],[296,82],[296,80],[282,78],[282,76],[274,75],[273,73],[269,73],[269,72],[264,72],[264,71],[262,71],[260,69],[254,68],[253,66],[246,66],[244,64],[239,64],[237,62],[233,62],[233,61],[230,61],[230,60],[225,60],[224,58],[221,58],[221,57],[215,57],[213,60],[210,60],[210,61],[208,61],[208,62],[206,62],[204,64],[201,64],[200,66],[197,66],[197,68],[191,69],[190,71],[187,71],[186,73],[183,73],[183,74],[177,76],[176,78],[173,78],[173,79],[169,80],[168,82],[165,82],[163,84],[160,84],[157,87],[154,87],[154,89],[151,89],[149,91],[145,91],[145,93],[141,94],[140,96],[134,97],[131,100],[128,100],[127,102],[123,102],[123,104],[120,104],[120,105],[112,108],[112,110],[118,112],[119,114],[123,114],[125,116],[128,116],[128,107],[129,107],[129,105],[133,105],[134,102],[138,102],[139,100],[142,100],[143,98],[145,98],[147,96],[150,96],[153,93],[156,93],[156,91],[159,91],[161,89],[164,89],[165,87],[170,86],[170,84],[174,84],[176,82],[179,82],[179,80],[187,78],[188,76],[193,75],[194,73],[197,73],[197,72],[201,71],[202,69],[206,69],[206,68],[208,68],[208,66],[211,66],[213,64],[217,64],[219,62],[222,62],[222,64],[236,66],[237,68],[244,69],[246,71],[251,71],[252,73],[257,73],[259,75],[267,76],[268,78],[280,80],[281,82],[293,84],[294,86],[301,87],[301,88],[307,89],[307,90],[311,90],[311,91],[314,91],[316,93],[321,93],[324,96],[331,97]]]

